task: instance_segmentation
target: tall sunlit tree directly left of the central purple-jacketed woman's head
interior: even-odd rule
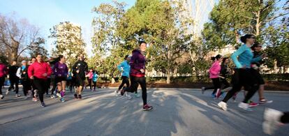
[[[96,65],[98,72],[105,77],[117,75],[117,65],[130,53],[123,48],[124,42],[117,34],[117,25],[125,13],[125,6],[126,3],[113,1],[113,4],[102,3],[92,9],[96,13],[92,22],[94,36],[91,40],[94,60],[89,63]]]

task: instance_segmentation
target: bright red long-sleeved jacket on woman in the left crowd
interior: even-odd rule
[[[47,76],[43,76],[44,73],[47,73]],[[45,62],[34,62],[29,66],[28,68],[28,76],[29,78],[31,76],[40,78],[40,79],[47,79],[48,76],[50,76],[52,73],[52,70],[50,66]]]

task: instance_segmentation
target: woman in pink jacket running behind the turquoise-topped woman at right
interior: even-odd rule
[[[218,54],[214,57],[215,61],[212,64],[211,68],[209,68],[209,78],[212,80],[214,84],[214,91],[212,93],[213,98],[218,98],[221,96],[221,82],[220,82],[220,71],[221,71],[221,61],[222,56]],[[204,92],[206,89],[202,89]]]

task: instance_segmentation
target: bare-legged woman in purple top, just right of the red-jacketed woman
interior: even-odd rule
[[[68,76],[68,68],[66,66],[66,59],[63,55],[59,55],[58,62],[55,63],[53,71],[55,80],[57,82],[57,96],[60,96],[60,101],[64,102],[64,95],[65,95],[65,89],[66,89],[66,78]]]

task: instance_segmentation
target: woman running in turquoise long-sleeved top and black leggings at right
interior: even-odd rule
[[[232,89],[227,93],[225,98],[218,103],[218,107],[223,110],[227,110],[227,101],[244,86],[249,93],[246,94],[243,102],[239,103],[238,106],[242,109],[251,111],[247,102],[259,88],[258,80],[253,75],[253,68],[251,68],[252,62],[259,61],[262,58],[262,56],[260,56],[253,59],[253,53],[251,52],[250,47],[255,42],[255,36],[253,34],[246,34],[241,37],[241,41],[244,45],[239,47],[231,56],[237,67],[232,77]]]

